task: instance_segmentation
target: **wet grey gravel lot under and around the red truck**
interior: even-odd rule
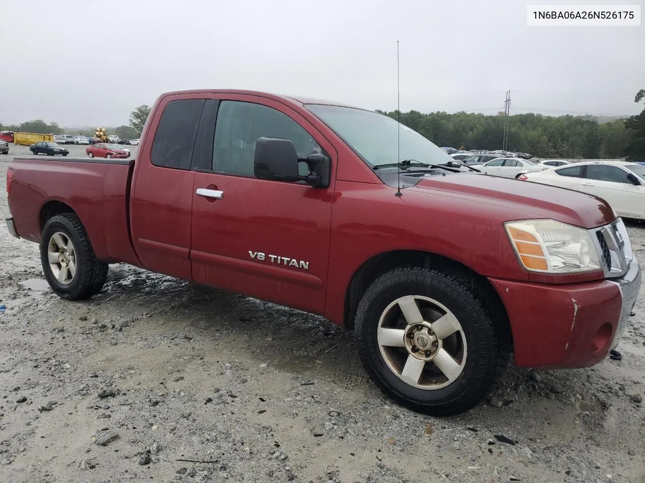
[[[0,155],[1,185],[25,153]],[[2,223],[0,246],[1,482],[645,482],[642,290],[622,361],[511,368],[436,419],[386,399],[320,317],[124,265],[68,302],[37,245]]]

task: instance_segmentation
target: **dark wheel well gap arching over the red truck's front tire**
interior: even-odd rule
[[[356,270],[345,294],[345,328],[348,330],[353,329],[356,308],[365,290],[379,276],[397,267],[437,269],[446,273],[459,274],[464,280],[471,281],[469,288],[475,293],[477,298],[484,302],[493,322],[499,324],[502,332],[508,336],[508,343],[512,344],[511,326],[508,321],[508,314],[506,314],[506,308],[499,294],[497,294],[497,291],[486,277],[479,275],[458,261],[434,253],[414,250],[401,250],[379,254],[370,258],[370,260],[363,263]]]

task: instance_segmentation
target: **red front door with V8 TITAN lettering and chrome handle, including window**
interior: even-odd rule
[[[218,97],[212,156],[195,173],[193,279],[322,314],[337,153],[280,102],[252,95]],[[260,137],[292,140],[299,155],[330,156],[330,187],[255,178]]]

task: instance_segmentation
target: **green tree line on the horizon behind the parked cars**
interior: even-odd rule
[[[645,89],[637,93],[634,102],[645,99]],[[377,112],[392,118],[401,117],[401,123],[430,139],[437,146],[462,149],[501,149],[504,122],[507,122],[508,151],[531,153],[541,158],[621,158],[631,156],[645,160],[645,109],[635,116],[611,122],[584,116],[544,116],[541,114],[516,114],[504,119],[503,113],[484,115],[458,112],[399,111]],[[122,139],[141,135],[150,107],[143,105],[130,113],[130,124],[113,129]],[[98,126],[97,126],[98,127]],[[23,122],[19,126],[3,126],[0,130],[28,131],[33,133],[64,133],[55,122],[43,120]],[[76,133],[70,133],[76,134]],[[93,130],[82,135],[92,136]],[[110,133],[112,134],[112,133]]]

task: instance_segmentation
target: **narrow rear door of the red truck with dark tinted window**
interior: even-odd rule
[[[143,266],[190,280],[190,218],[195,172],[190,165],[206,99],[161,100],[137,153],[130,203],[132,242]],[[154,129],[154,128],[152,128]]]

